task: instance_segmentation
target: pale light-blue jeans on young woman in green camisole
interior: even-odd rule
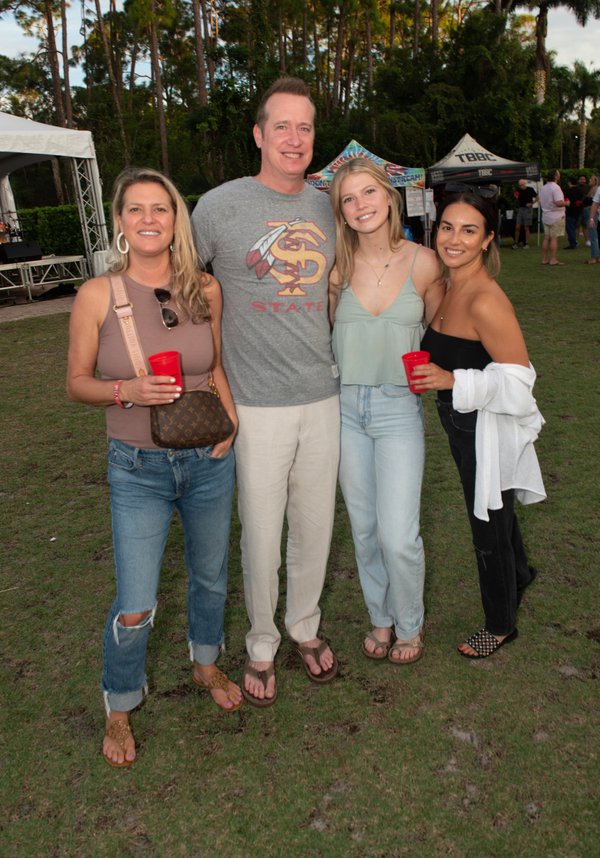
[[[425,464],[423,408],[406,386],[342,385],[340,485],[373,626],[401,640],[423,624],[419,530]]]

